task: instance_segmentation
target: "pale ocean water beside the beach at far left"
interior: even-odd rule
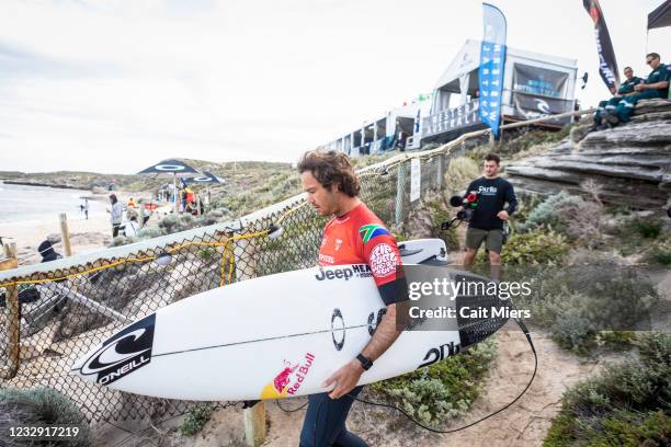
[[[90,191],[60,190],[46,186],[8,185],[0,182],[0,224],[54,219],[66,213],[68,219],[83,219],[79,205]],[[89,200],[89,217],[105,214],[105,202]]]

